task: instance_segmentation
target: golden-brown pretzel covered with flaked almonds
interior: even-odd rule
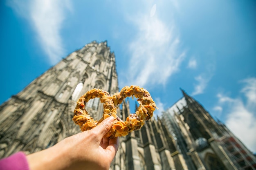
[[[94,120],[85,110],[85,105],[90,99],[96,97],[100,98],[103,104],[103,117],[97,121]],[[117,116],[117,106],[123,102],[126,97],[136,97],[139,103],[139,107],[135,114],[130,114],[126,117],[126,121],[121,120]],[[90,130],[96,127],[101,121],[107,117],[115,117],[112,128],[104,137],[114,138],[119,136],[126,136],[133,130],[140,129],[146,120],[149,120],[153,116],[153,111],[156,109],[155,102],[148,93],[148,91],[139,86],[125,86],[119,93],[115,93],[113,96],[106,91],[98,88],[94,88],[86,92],[76,102],[76,108],[74,110],[73,121],[78,124],[81,131]]]

